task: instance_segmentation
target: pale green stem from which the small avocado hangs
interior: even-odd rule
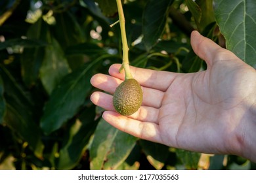
[[[130,67],[129,67],[129,47],[127,44],[127,38],[126,38],[126,31],[125,31],[125,15],[123,14],[123,5],[121,3],[121,0],[116,0],[117,3],[117,10],[118,10],[118,16],[119,16],[119,24],[121,29],[121,41],[123,45],[123,62],[121,65],[121,68],[119,69],[119,72],[121,72],[122,69],[125,69],[125,80],[133,78],[131,75]]]

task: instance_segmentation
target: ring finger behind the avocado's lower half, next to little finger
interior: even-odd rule
[[[99,107],[105,108],[106,110],[115,111],[113,103],[112,95],[108,95],[107,93],[103,92],[94,92],[91,95],[91,101],[98,105]],[[147,121],[147,122],[158,122],[158,112],[157,108],[153,107],[145,107],[141,106],[137,112],[129,116],[129,118],[133,118],[135,120],[140,121]]]

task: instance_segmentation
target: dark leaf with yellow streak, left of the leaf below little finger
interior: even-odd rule
[[[60,149],[58,169],[73,169],[77,165],[95,131],[97,123],[94,118],[95,107],[85,108],[79,119],[69,128]]]

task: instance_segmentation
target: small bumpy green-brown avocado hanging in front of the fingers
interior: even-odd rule
[[[129,116],[135,113],[142,104],[142,89],[134,78],[124,80],[116,88],[113,95],[113,105],[116,111]]]

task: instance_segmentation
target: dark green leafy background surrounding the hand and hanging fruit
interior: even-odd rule
[[[123,1],[131,65],[205,69],[190,46],[198,29],[222,46],[224,36],[255,67],[255,1],[214,2]],[[0,169],[255,169],[237,156],[142,141],[101,118],[90,79],[121,63],[116,20],[114,0],[0,2]]]

